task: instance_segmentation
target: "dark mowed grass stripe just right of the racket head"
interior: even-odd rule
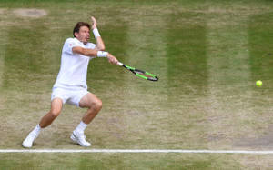
[[[207,25],[200,18],[167,15],[167,131],[177,147],[206,147]]]

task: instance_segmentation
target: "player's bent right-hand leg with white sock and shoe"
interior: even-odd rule
[[[86,126],[94,119],[97,113],[102,108],[102,102],[96,95],[91,93],[86,94],[79,102],[80,107],[88,108],[86,114],[84,115],[81,123],[77,125],[76,129],[71,135],[71,139],[82,146],[90,146],[91,144],[86,141],[86,136],[84,131]]]

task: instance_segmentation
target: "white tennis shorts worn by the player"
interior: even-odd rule
[[[86,88],[82,87],[53,87],[51,94],[51,101],[55,98],[61,98],[63,100],[63,104],[76,105],[79,107],[80,100],[89,92]]]

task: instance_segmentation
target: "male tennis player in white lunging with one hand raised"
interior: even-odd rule
[[[88,63],[95,57],[107,57],[111,64],[117,65],[114,55],[105,52],[105,44],[96,28],[96,19],[92,16],[92,30],[96,45],[89,43],[90,25],[78,22],[73,30],[74,38],[66,39],[62,50],[61,67],[52,89],[51,109],[41,119],[35,129],[30,132],[23,142],[24,147],[32,147],[40,131],[51,125],[60,115],[64,104],[86,107],[86,114],[76,126],[70,138],[81,146],[90,146],[84,133],[86,126],[94,119],[102,108],[102,102],[96,95],[87,91],[86,75]]]

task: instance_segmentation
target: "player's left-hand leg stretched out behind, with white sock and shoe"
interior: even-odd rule
[[[63,107],[63,101],[60,98],[56,98],[51,102],[50,111],[41,119],[40,124],[35,126],[35,129],[30,132],[23,142],[24,147],[32,147],[35,138],[39,135],[41,128],[45,128],[56,119],[58,115],[60,115]]]

